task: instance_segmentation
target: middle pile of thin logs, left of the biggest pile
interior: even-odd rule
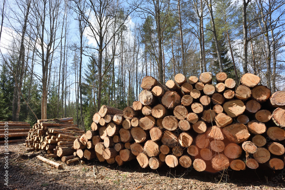
[[[28,151],[45,150],[47,157],[61,157],[63,162],[79,162],[73,156],[73,142],[85,131],[73,123],[73,118],[38,120],[28,132]]]

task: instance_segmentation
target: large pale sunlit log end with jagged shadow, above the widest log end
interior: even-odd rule
[[[229,100],[223,105],[224,111],[229,117],[237,117],[245,111],[245,105],[241,100]]]

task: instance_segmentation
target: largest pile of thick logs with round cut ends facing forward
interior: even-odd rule
[[[74,141],[77,156],[119,166],[137,159],[152,169],[282,169],[285,91],[271,95],[250,73],[239,85],[223,72],[216,85],[210,72],[199,79],[177,74],[164,86],[144,77],[132,107],[103,105],[95,113],[91,130]]]

